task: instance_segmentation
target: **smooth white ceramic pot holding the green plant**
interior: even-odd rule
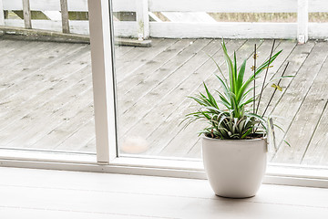
[[[202,157],[210,186],[223,197],[254,196],[267,164],[267,139],[217,140],[202,136]]]

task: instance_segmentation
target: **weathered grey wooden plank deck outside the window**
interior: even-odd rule
[[[272,40],[227,40],[241,63],[254,44],[259,63]],[[283,49],[270,78],[286,74],[268,112],[285,130],[276,130],[279,150],[272,162],[328,165],[328,43],[276,41]],[[0,146],[59,151],[96,151],[89,46],[0,39]],[[200,124],[182,130],[179,122],[195,109],[187,96],[219,85],[210,57],[222,65],[220,40],[152,39],[152,47],[117,47],[118,127],[122,152],[200,158]],[[252,62],[252,58],[250,60]],[[225,66],[221,68],[224,70]],[[247,67],[251,73],[251,64]],[[259,84],[261,79],[258,80]],[[261,109],[273,89],[264,90]],[[291,147],[282,139],[285,138]]]

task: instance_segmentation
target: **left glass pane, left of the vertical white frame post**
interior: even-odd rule
[[[75,37],[62,34],[59,0],[42,1],[37,11],[31,5],[32,30],[26,35],[23,12],[16,10],[21,4],[6,8],[8,31],[0,37],[1,147],[95,152],[87,3],[75,5],[84,12],[68,13]]]

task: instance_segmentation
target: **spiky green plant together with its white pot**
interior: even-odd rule
[[[272,131],[273,123],[271,118],[264,115],[267,108],[261,115],[258,110],[262,90],[270,83],[265,81],[268,68],[282,51],[273,56],[271,52],[269,59],[256,68],[255,45],[251,76],[244,79],[246,59],[238,69],[236,53],[231,60],[224,40],[221,46],[229,78],[225,78],[219,65],[215,63],[220,72],[220,75],[216,75],[220,83],[220,90],[215,90],[218,98],[215,99],[203,83],[205,93],[200,92],[199,95],[190,97],[200,105],[200,110],[186,115],[183,121],[188,121],[186,126],[196,120],[204,120],[208,123],[204,130],[200,130],[200,135],[204,167],[214,193],[223,197],[246,198],[257,193],[266,169],[267,137]],[[274,41],[272,51],[273,48]],[[264,70],[266,73],[261,85],[261,93],[255,95],[255,79]],[[276,89],[281,89],[279,83],[281,78],[285,78],[284,71],[277,85],[272,85],[275,88],[274,92]],[[270,102],[267,106],[269,104]]]

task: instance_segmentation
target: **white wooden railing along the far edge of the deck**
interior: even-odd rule
[[[87,12],[87,0],[0,0],[0,2],[0,25],[88,34],[87,21],[68,21],[68,11]],[[309,13],[328,12],[328,1],[325,0],[113,0],[112,5],[114,12],[135,12],[137,17],[136,21],[115,21],[117,36],[298,38],[300,42],[305,42],[308,37],[328,36],[328,23],[308,23]],[[24,11],[25,19],[3,19],[1,13],[4,10]],[[29,11],[58,13],[61,11],[62,19],[31,20]],[[214,19],[213,22],[192,22],[183,19],[162,22],[153,12],[168,14],[177,12],[180,15],[184,13],[205,15],[209,12],[297,13],[298,20],[296,23],[216,22]],[[149,22],[149,16],[155,21]]]

